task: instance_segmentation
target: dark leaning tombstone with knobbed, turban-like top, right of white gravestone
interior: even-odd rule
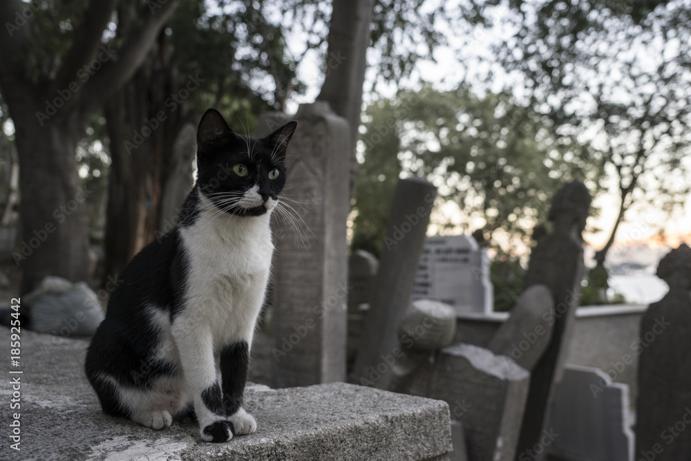
[[[530,390],[516,453],[539,444],[549,402],[564,366],[583,280],[583,240],[591,197],[583,182],[559,189],[549,209],[551,234],[542,236],[531,254],[525,286],[546,285],[554,301],[552,338],[531,373]],[[516,458],[518,460],[518,458]],[[522,460],[518,460],[522,461]]]

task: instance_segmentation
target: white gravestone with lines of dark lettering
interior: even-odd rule
[[[413,299],[436,299],[451,305],[458,314],[491,312],[493,288],[486,248],[465,235],[428,237],[415,276]]]

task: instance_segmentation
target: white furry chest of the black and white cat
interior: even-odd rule
[[[180,229],[187,254],[185,310],[214,342],[251,337],[271,268],[269,216],[238,217],[202,211]]]

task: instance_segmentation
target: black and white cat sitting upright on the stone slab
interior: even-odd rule
[[[255,139],[214,109],[202,116],[197,180],[178,225],[122,271],[86,353],[106,413],[164,429],[193,404],[202,440],[256,430],[243,392],[274,250],[269,216],[295,128]]]

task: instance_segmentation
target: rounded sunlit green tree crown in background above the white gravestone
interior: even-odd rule
[[[546,221],[549,198],[563,182],[600,173],[587,149],[509,93],[480,97],[465,86],[424,86],[376,102],[367,114],[354,247],[363,241],[359,233],[383,236],[383,229],[373,228],[383,225],[376,216],[388,211],[388,202],[381,202],[390,196],[384,190],[395,185],[391,173],[398,163],[402,171],[432,180],[441,203],[459,205],[466,232],[478,222],[489,232],[504,232],[505,250],[529,245],[531,229]],[[380,173],[386,180],[379,180]]]

